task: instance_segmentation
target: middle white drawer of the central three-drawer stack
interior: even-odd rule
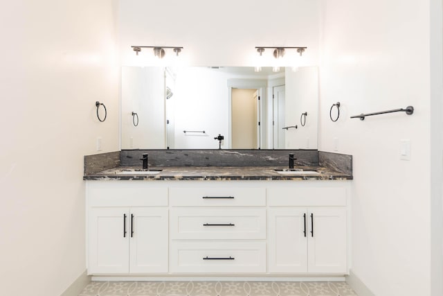
[[[172,239],[265,239],[266,209],[183,209],[170,212]]]

